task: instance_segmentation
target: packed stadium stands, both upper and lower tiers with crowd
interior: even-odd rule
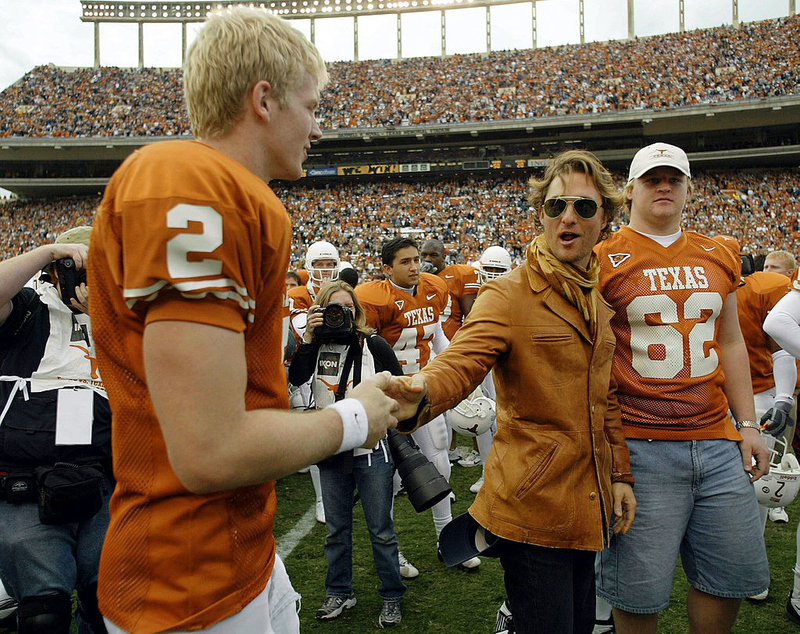
[[[320,119],[333,141],[323,137],[315,148],[328,149],[312,152],[307,166],[334,165],[322,168],[334,177],[277,186],[294,220],[293,263],[302,262],[310,242],[326,239],[357,268],[377,273],[381,241],[401,230],[441,237],[458,261],[474,260],[490,244],[503,244],[519,260],[535,230],[525,181],[548,156],[565,147],[605,151],[598,153],[617,170],[621,186],[633,152],[654,140],[701,152],[692,156],[698,173],[687,229],[733,235],[752,253],[794,251],[800,231],[800,171],[794,158],[800,123],[793,119],[800,112],[799,41],[800,16],[792,16],[630,41],[332,64]],[[796,110],[787,108],[786,99]],[[762,103],[769,116],[784,119],[752,124],[738,108],[728,120],[719,113],[720,104],[741,104],[744,110]],[[697,111],[693,121],[720,123],[697,132],[695,123],[665,120],[662,133],[651,133],[661,134],[656,138],[646,136],[649,119],[624,133],[617,123],[624,113],[655,118],[665,111],[670,116]],[[573,127],[585,135],[569,145],[574,133],[558,130],[576,116],[582,118]],[[542,120],[555,127],[542,128],[533,140],[530,128],[512,134],[503,127],[519,121],[541,126]],[[443,124],[469,124],[463,135],[469,143],[428,132]],[[389,139],[376,147],[370,136],[386,130],[410,132],[411,141],[393,146]],[[495,131],[489,141],[472,143],[486,130]],[[363,133],[360,144],[353,140],[356,131]],[[34,68],[0,93],[0,186],[4,179],[21,179],[6,182],[29,197],[0,205],[2,257],[90,222],[99,195],[64,193],[99,192],[136,147],[188,134],[180,70]],[[109,137],[115,138],[111,144],[103,141]],[[75,150],[74,159],[61,159],[66,151],[59,144],[81,138],[88,145]],[[114,145],[119,143],[123,146]],[[780,147],[796,154],[765,162]],[[764,148],[769,156],[748,162],[748,153]],[[710,151],[707,162],[700,160],[703,150]],[[729,160],[735,150],[741,156]],[[426,168],[428,174],[399,173],[400,164],[434,159],[438,163]],[[341,167],[376,161],[381,165]],[[777,166],[763,167],[767,164]],[[44,194],[37,189],[43,183],[48,184]],[[49,197],[35,198],[42,195]]]

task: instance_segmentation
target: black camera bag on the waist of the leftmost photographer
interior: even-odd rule
[[[88,520],[103,506],[103,473],[97,465],[57,462],[37,467],[39,521],[42,524],[72,524]]]

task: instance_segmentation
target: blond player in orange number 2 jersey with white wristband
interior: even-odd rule
[[[302,176],[326,78],[288,22],[213,12],[183,73],[197,140],[138,150],[105,189],[88,274],[113,411],[98,591],[112,634],[298,632],[274,481],[396,425],[384,374],[287,411],[291,220],[268,183]]]

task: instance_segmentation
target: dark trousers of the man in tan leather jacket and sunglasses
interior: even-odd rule
[[[503,541],[508,606],[518,634],[591,634],[597,553]]]

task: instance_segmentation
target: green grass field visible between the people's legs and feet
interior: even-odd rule
[[[461,441],[466,442],[466,439]],[[451,485],[456,493],[454,516],[465,512],[469,507],[475,497],[469,492],[469,487],[479,476],[478,467],[453,467]],[[275,534],[279,543],[281,536],[308,511],[313,499],[309,475],[296,474],[278,483]],[[795,501],[788,512],[788,524],[767,522],[767,550],[772,570],[770,597],[759,605],[743,602],[734,628],[737,634],[800,632],[800,627],[792,624],[784,615],[784,605],[792,587],[795,532],[800,520],[800,502]],[[311,532],[286,558],[286,567],[292,582],[303,596],[303,608],[300,612],[303,632],[350,634],[379,629],[379,584],[360,506],[355,509],[355,525],[353,587],[358,604],[336,620],[320,622],[314,619],[314,614],[325,596],[325,527],[315,523]],[[405,497],[400,497],[395,502],[395,529],[401,550],[419,568],[420,575],[406,581],[408,592],[402,603],[403,622],[394,629],[415,633],[493,632],[495,614],[505,596],[503,571],[499,561],[483,558],[483,564],[476,573],[447,569],[436,558],[430,511],[418,515]],[[720,530],[724,530],[724,527],[720,527]],[[678,566],[672,600],[669,608],[661,615],[659,632],[678,634],[688,631],[685,604],[687,587],[683,571]]]

